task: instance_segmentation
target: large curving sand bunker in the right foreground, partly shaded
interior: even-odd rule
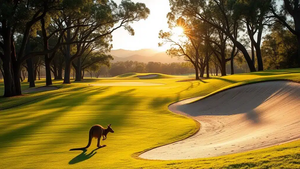
[[[193,136],[161,146],[141,158],[174,160],[261,149],[300,139],[300,84],[274,81],[229,89],[169,110],[200,122]]]

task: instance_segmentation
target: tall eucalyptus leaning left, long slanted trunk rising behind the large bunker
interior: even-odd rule
[[[238,38],[234,37],[234,11],[227,0],[170,0],[170,6],[173,15],[195,17],[195,19],[204,21],[219,29],[243,53],[250,71],[256,71],[246,48]]]

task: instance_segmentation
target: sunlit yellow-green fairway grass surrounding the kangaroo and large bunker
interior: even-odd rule
[[[1,168],[300,168],[300,141],[280,146],[192,160],[145,160],[139,152],[193,134],[196,123],[170,112],[169,104],[208,95],[219,89],[264,80],[300,80],[300,69],[237,74],[189,82],[178,78],[130,81],[161,86],[88,86],[121,79],[85,79],[70,85],[55,81],[58,90],[0,98]],[[124,82],[124,80],[122,80]],[[38,83],[43,85],[45,81]],[[25,89],[27,83],[22,83]],[[3,91],[0,82],[0,92]],[[21,105],[21,106],[18,106]],[[15,107],[18,106],[18,107]],[[10,108],[13,107],[13,108]],[[112,124],[115,133],[101,141],[107,147],[68,151],[87,144],[94,124]]]

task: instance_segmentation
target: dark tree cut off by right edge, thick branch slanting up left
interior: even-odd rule
[[[282,1],[281,1],[282,2]],[[281,24],[286,26],[289,31],[297,36],[298,48],[298,67],[300,67],[300,1],[299,0],[283,0],[280,10],[277,10],[276,1],[273,0],[270,5],[272,16]],[[290,20],[290,18],[292,18]]]

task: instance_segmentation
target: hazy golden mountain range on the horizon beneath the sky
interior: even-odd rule
[[[172,63],[172,62],[184,62],[183,58],[171,58],[166,52],[158,52],[152,49],[141,49],[141,50],[111,50],[108,53],[113,56],[112,62],[118,61],[138,61],[138,62],[161,62],[161,63]]]

